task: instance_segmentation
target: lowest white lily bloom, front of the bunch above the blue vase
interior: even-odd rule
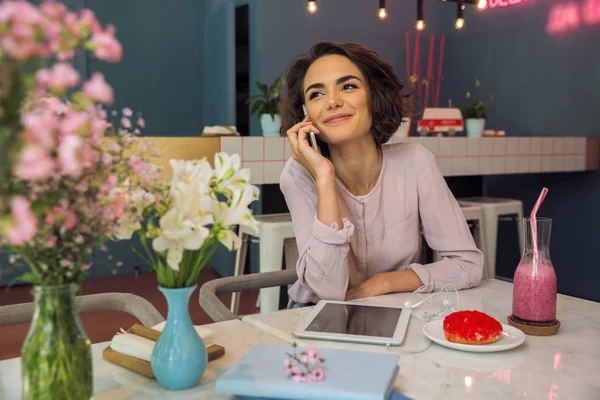
[[[160,219],[161,235],[152,241],[156,251],[167,251],[167,263],[179,271],[184,250],[198,250],[209,235],[205,227],[194,226],[177,209],[172,208]]]

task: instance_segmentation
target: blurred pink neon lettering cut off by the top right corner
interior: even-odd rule
[[[600,0],[555,5],[548,15],[546,32],[559,34],[582,25],[600,25]]]

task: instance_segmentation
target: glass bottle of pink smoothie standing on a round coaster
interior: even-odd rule
[[[556,273],[550,260],[552,219],[523,219],[525,247],[513,281],[512,318],[531,325],[556,323]]]

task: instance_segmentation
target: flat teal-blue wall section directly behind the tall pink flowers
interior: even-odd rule
[[[115,90],[115,108],[144,114],[146,135],[196,136],[204,115],[204,2],[178,0],[86,0],[102,23],[117,28],[123,60],[89,59]]]

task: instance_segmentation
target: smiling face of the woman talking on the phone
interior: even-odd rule
[[[344,56],[315,61],[304,77],[304,103],[319,137],[330,144],[369,133],[369,87],[358,67]]]

